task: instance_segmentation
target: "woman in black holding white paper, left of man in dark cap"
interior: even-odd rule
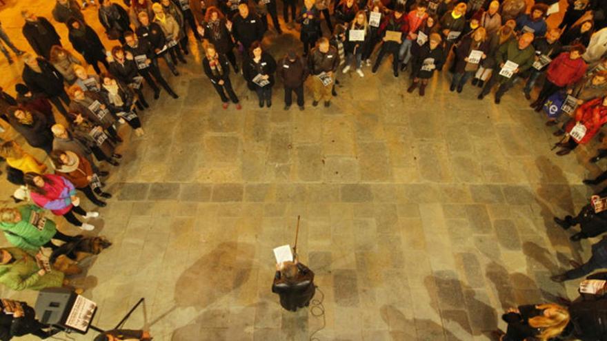
[[[276,72],[274,58],[261,49],[259,41],[253,42],[248,56],[242,63],[242,74],[247,81],[248,88],[257,93],[259,107],[263,107],[264,101],[268,107],[272,106],[274,72]]]

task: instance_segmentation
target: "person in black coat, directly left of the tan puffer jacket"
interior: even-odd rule
[[[48,97],[49,101],[57,107],[57,110],[68,117],[68,111],[65,105],[70,105],[70,97],[63,88],[63,76],[52,66],[51,63],[41,57],[36,58],[33,54],[27,53],[23,58],[23,74],[21,78],[34,93],[42,93]]]

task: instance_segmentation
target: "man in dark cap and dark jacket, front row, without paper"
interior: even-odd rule
[[[304,81],[308,78],[308,67],[304,59],[297,56],[294,50],[278,63],[276,74],[285,87],[285,107],[289,110],[292,103],[292,92],[297,95],[299,110],[304,110]]]

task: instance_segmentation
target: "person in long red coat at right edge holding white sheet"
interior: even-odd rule
[[[567,141],[557,144],[562,148],[557,155],[567,155],[580,143],[588,143],[605,123],[607,123],[607,96],[580,105],[575,110],[575,118],[565,127],[566,133],[569,134]]]

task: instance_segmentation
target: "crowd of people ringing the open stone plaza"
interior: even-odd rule
[[[239,74],[248,90],[257,94],[259,107],[272,106],[272,89],[281,83],[283,109],[290,110],[295,93],[299,110],[305,110],[306,82],[312,89],[312,105],[322,101],[330,107],[337,96],[339,74],[354,71],[359,77],[371,76],[391,56],[395,77],[410,72],[403,92],[417,90],[419,96],[426,94],[437,72],[450,74],[450,92],[478,87],[479,100],[495,87],[496,104],[520,83],[529,106],[546,114],[546,125],[558,128],[555,136],[563,136],[556,144],[561,148],[559,156],[591,141],[607,123],[605,1],[568,1],[558,27],[546,23],[548,15],[559,11],[555,0],[537,0],[530,8],[524,0],[304,0],[302,4],[283,0],[282,6],[281,23],[277,0],[125,0],[122,4],[57,0],[51,15],[66,25],[71,48],[48,19],[26,9],[21,12],[22,32],[33,53],[15,47],[0,25],[0,39],[24,62],[16,96],[0,93],[0,118],[30,147],[48,155],[43,162],[17,141],[0,144],[6,176],[19,186],[14,198],[22,201],[0,209],[0,228],[13,246],[0,249],[0,283],[14,290],[70,286],[69,271],[52,262],[57,256],[53,253],[60,249],[52,240],[67,243],[84,237],[61,233],[52,216],[63,216],[83,231],[94,229],[90,219],[99,213],[81,207],[79,192],[93,205],[107,205],[103,199],[112,196],[103,190],[103,180],[109,173],[99,165],[119,166],[116,147],[123,143],[121,125],[128,125],[135,136],[145,134],[139,117],[150,107],[144,85],[154,99],[159,99],[161,90],[179,98],[164,70],[180,76],[177,65],[188,63],[192,43],[202,44],[201,68],[224,110],[230,102],[237,110],[242,108],[232,86]],[[87,7],[96,8],[103,32],[86,21],[82,10]],[[282,56],[268,52],[263,41],[270,21],[272,34],[299,34],[301,53],[295,47]],[[99,34],[110,43],[103,43]],[[14,63],[1,43],[0,50],[8,63]],[[57,120],[54,110],[63,119]],[[599,149],[592,161],[604,156],[607,149]],[[607,172],[586,183],[604,180]],[[574,242],[599,236],[607,230],[605,195],[590,198],[575,218],[555,218],[555,222],[564,229],[581,226],[571,237]],[[593,245],[592,251],[584,265],[572,262],[575,269],[553,280],[573,280],[607,267],[607,240]],[[277,279],[288,285],[297,272],[294,269],[295,265],[279,267]],[[588,291],[592,287],[588,283],[603,277],[594,275],[581,282],[584,294],[574,302],[510,309],[503,316],[508,329],[497,332],[496,338],[603,340],[607,329],[601,327],[601,316],[587,313],[592,302],[607,302],[601,301],[602,287]],[[279,292],[280,287],[275,287]],[[306,289],[308,301],[312,289],[310,285]],[[299,307],[286,305],[290,310]],[[57,332],[37,322],[26,302],[1,300],[0,307],[2,340],[28,333],[46,338]],[[20,328],[11,327],[16,322]],[[111,331],[98,338],[148,340],[150,335]]]

